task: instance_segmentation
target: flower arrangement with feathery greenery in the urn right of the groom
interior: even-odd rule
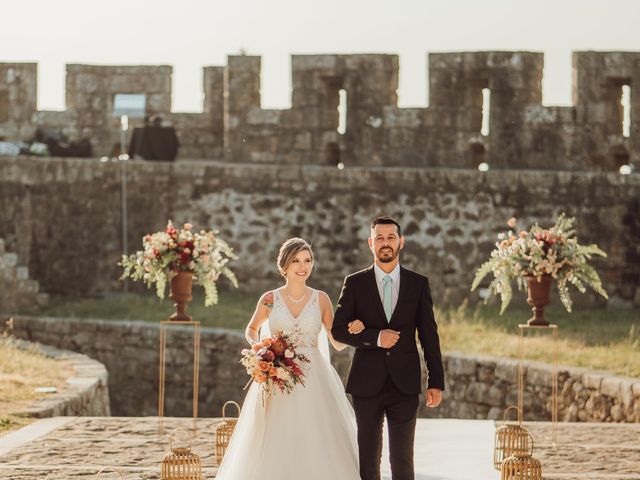
[[[527,284],[526,277],[540,281],[543,275],[550,275],[557,280],[560,300],[568,312],[572,306],[569,285],[581,293],[589,286],[608,298],[600,276],[589,265],[593,255],[606,257],[607,254],[595,244],[580,245],[574,224],[575,217],[568,218],[562,213],[551,228],[544,229],[536,223],[528,231],[518,231],[516,219],[511,218],[507,225],[512,230],[498,234],[496,248],[491,252],[491,258],[478,268],[471,290],[493,273],[489,291],[501,297],[500,314],[511,301],[512,280],[516,280],[518,290],[522,290]]]

